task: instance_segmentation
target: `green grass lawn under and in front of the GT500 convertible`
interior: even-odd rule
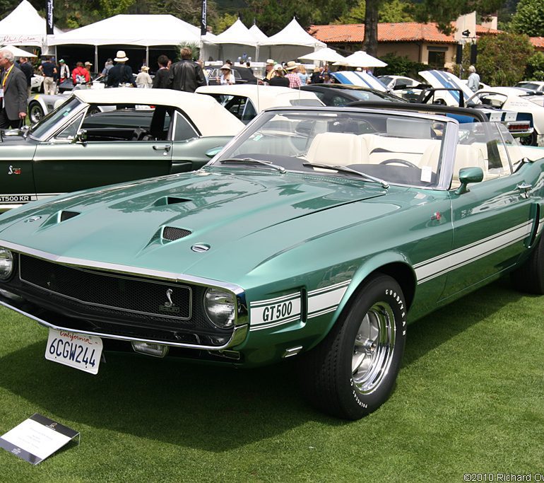
[[[544,296],[507,281],[410,325],[391,399],[356,422],[308,407],[289,363],[235,371],[108,353],[91,376],[45,361],[47,330],[34,322],[1,308],[0,330],[0,434],[34,412],[81,431],[81,446],[37,466],[0,449],[0,482],[544,473]]]

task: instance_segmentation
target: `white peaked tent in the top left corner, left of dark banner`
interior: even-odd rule
[[[34,45],[43,48],[46,44],[45,18],[40,17],[28,0],[20,4],[0,21],[0,45]],[[55,34],[62,30],[54,28]]]

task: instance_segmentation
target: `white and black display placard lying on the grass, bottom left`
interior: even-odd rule
[[[0,436],[0,448],[37,465],[76,436],[78,431],[36,412]]]

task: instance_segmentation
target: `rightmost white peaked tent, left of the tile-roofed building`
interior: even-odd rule
[[[268,57],[277,61],[298,59],[304,54],[326,47],[326,44],[309,35],[295,18],[283,30],[268,37],[268,40],[259,42],[259,45],[263,53],[266,52],[264,46],[268,46]]]

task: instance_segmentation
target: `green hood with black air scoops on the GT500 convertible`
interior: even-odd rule
[[[310,223],[311,215],[385,193],[381,185],[353,178],[201,170],[25,206],[0,217],[0,240],[76,260],[213,278],[218,273],[213,264],[205,274],[198,267],[206,256],[223,261],[240,257],[244,262],[230,266],[237,264],[245,272],[285,250],[286,244],[304,243],[331,229],[321,225],[320,217]],[[360,216],[382,216],[377,205]],[[333,214],[327,218],[331,226],[338,222]],[[174,238],[187,236],[166,240],[170,232]],[[191,250],[195,244],[205,244],[209,251]]]

